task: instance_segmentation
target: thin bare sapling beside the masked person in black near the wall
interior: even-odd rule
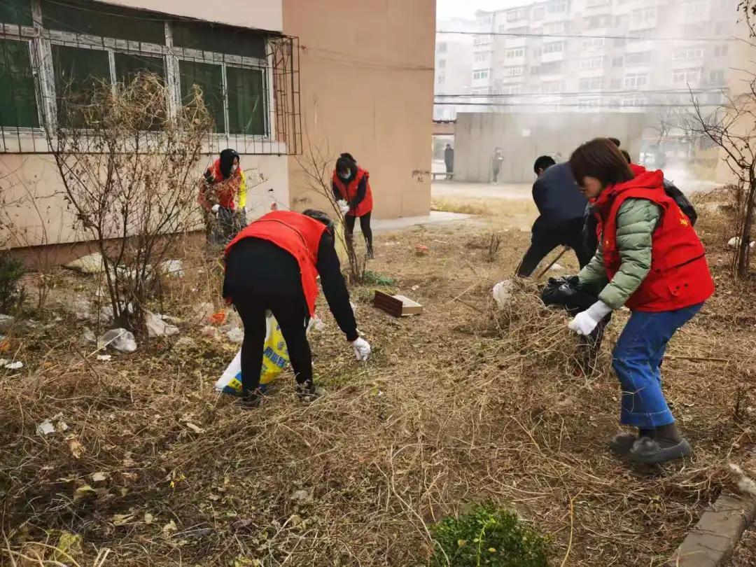
[[[336,203],[337,200],[331,187],[331,172],[336,158],[331,155],[328,145],[325,145],[326,147],[316,146],[307,137],[304,151],[297,156],[296,163],[305,174],[305,181],[310,190],[327,200],[331,212],[339,220],[335,237],[346,249],[349,261],[349,283],[355,285],[364,281],[367,256],[359,256],[355,251],[354,239],[346,236],[344,214]]]

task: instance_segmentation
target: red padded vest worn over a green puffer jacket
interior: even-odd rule
[[[714,293],[714,280],[705,249],[685,213],[664,190],[661,170],[643,172],[609,187],[598,203],[603,221],[603,257],[611,280],[620,268],[617,215],[627,199],[646,199],[662,207],[662,218],[652,235],[651,269],[627,299],[631,311],[674,311],[704,302]]]

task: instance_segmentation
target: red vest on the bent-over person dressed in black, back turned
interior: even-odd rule
[[[262,238],[286,250],[299,264],[302,290],[310,312],[315,314],[318,298],[318,248],[326,225],[314,218],[293,211],[272,211],[252,222],[226,246],[225,255],[243,238]]]

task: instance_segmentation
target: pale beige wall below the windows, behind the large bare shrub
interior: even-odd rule
[[[197,180],[215,156],[203,156],[197,163]],[[256,218],[275,200],[290,201],[286,156],[242,155],[241,166],[248,175],[246,209]],[[265,181],[261,181],[261,175]],[[73,228],[73,216],[64,200],[63,182],[49,154],[0,154],[0,183],[6,203],[0,213],[0,249],[72,243],[85,239]],[[257,184],[257,187],[252,187]],[[273,191],[268,191],[269,189]],[[7,228],[5,225],[12,225]]]

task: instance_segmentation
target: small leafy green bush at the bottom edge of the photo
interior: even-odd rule
[[[547,541],[516,513],[491,502],[431,526],[433,567],[547,567]]]

